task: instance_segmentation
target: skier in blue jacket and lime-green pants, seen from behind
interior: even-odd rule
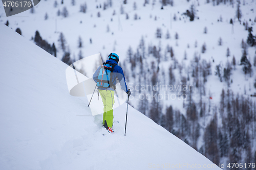
[[[103,105],[103,126],[109,133],[113,133],[113,105],[114,91],[116,88],[117,80],[120,82],[122,90],[129,96],[131,95],[130,89],[127,89],[125,78],[122,68],[117,64],[119,56],[116,53],[110,53],[109,60],[106,60],[93,75],[93,80],[97,83],[98,91],[100,93]]]

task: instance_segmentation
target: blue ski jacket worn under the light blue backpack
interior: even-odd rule
[[[117,78],[121,85],[122,90],[127,92],[128,90],[127,90],[125,78],[123,75],[123,69],[119,65],[117,65],[117,62],[115,60],[112,60],[112,59],[106,60],[106,63],[116,64],[116,66],[114,67],[114,70],[113,70],[113,75],[112,75],[113,85],[116,85],[116,78]],[[101,66],[98,67],[98,69],[94,72],[94,75],[93,75],[93,80],[95,81],[95,83],[97,83],[97,80],[98,80],[100,67]],[[99,87],[99,90],[105,90],[105,88]],[[114,89],[111,87],[107,88],[106,90],[114,91]]]

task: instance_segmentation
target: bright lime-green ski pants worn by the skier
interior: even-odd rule
[[[103,113],[103,124],[105,123],[108,127],[112,128],[113,126],[113,105],[115,103],[114,94],[115,92],[112,90],[99,90],[103,105],[104,105],[104,113]]]

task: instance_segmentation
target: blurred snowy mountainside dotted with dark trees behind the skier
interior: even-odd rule
[[[130,104],[219,165],[256,162],[255,10],[254,0],[46,0],[16,17],[0,7],[0,22],[68,65],[118,54]]]

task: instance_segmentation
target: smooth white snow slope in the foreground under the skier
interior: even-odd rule
[[[0,33],[0,169],[212,164],[132,107],[124,136],[125,104],[114,110],[115,133],[103,136],[102,115],[69,94],[67,65],[3,24]]]

